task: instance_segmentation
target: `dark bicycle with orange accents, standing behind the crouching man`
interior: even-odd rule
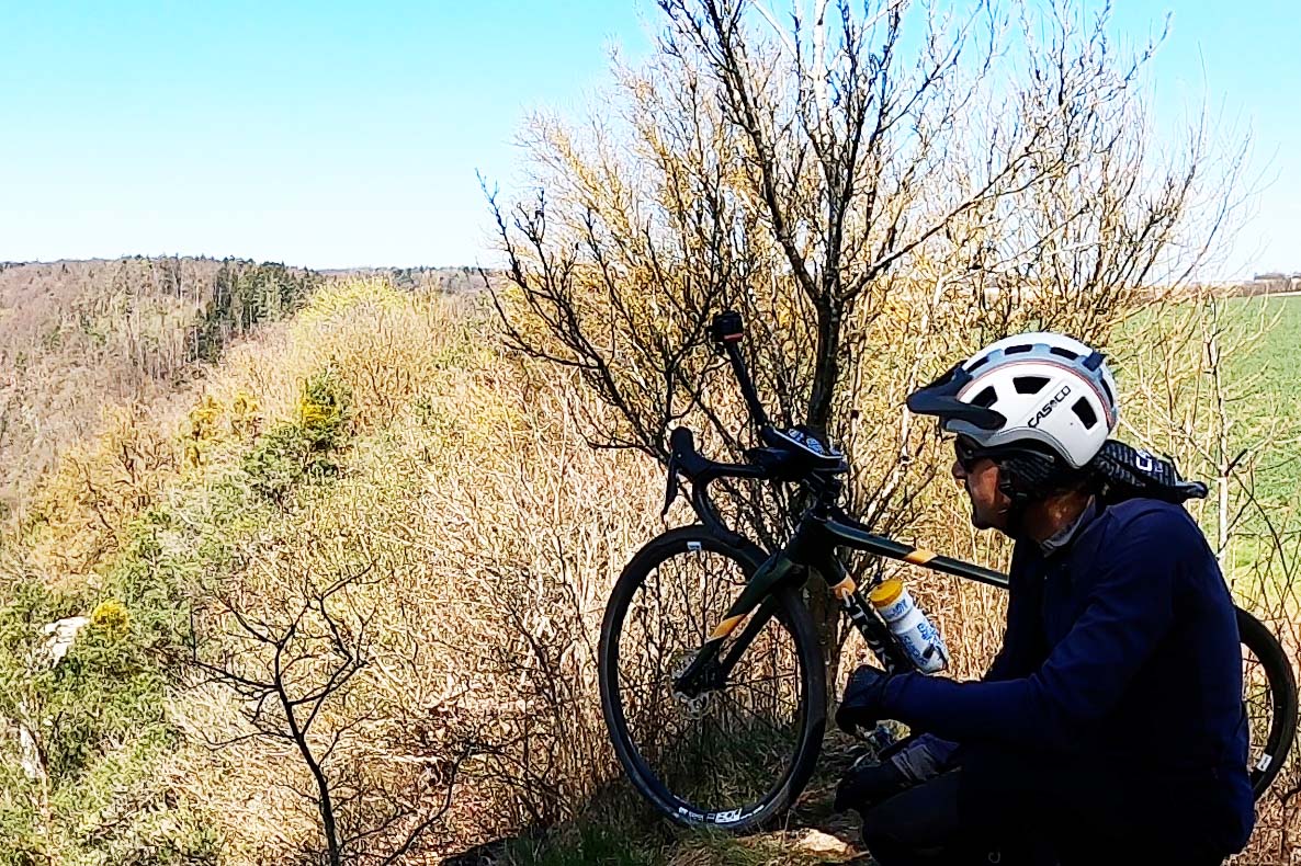
[[[680,475],[691,482],[700,523],[653,538],[624,567],[606,605],[598,650],[602,714],[634,787],[679,824],[734,832],[764,826],[788,809],[821,753],[824,659],[800,594],[812,573],[822,576],[886,670],[913,670],[864,596],[881,570],[859,586],[835,547],[1004,589],[1008,584],[1000,572],[876,534],[846,514],[837,501],[848,464],[800,430],[773,426],[742,358],[742,337],[736,313],[714,319],[710,338],[727,354],[762,445],[745,453],[747,463],[718,463],[696,451],[691,430],[673,432],[665,508],[678,495]],[[790,541],[768,553],[730,529],[709,495],[719,479],[799,484],[808,505]],[[687,566],[697,573],[674,579]],[[688,610],[693,594],[704,610]],[[1265,624],[1241,609],[1237,623],[1245,649],[1244,709],[1267,714],[1250,718],[1250,775],[1259,798],[1292,746],[1297,689]],[[670,629],[683,633],[670,636]],[[621,662],[630,661],[632,675],[624,676]],[[645,681],[626,689],[634,676]]]

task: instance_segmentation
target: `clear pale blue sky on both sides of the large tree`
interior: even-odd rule
[[[1301,16],[1283,0],[1120,0],[1175,13],[1163,122],[1202,95],[1250,129],[1254,217],[1228,272],[1301,270]],[[531,107],[570,111],[641,0],[0,0],[0,260],[238,255],[317,268],[490,264],[475,178],[510,181]]]

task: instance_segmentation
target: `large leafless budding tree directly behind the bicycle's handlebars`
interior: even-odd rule
[[[782,25],[745,0],[658,5],[657,55],[615,66],[589,125],[531,120],[536,195],[485,185],[507,339],[615,410],[593,443],[664,460],[690,419],[736,454],[705,329],[738,308],[774,417],[843,442],[852,505],[905,528],[934,466],[908,390],[1015,328],[1105,342],[1231,213],[1240,153],[1211,163],[1201,129],[1155,151],[1138,91],[1159,38],[1119,53],[1107,9],[817,0]],[[755,505],[740,516],[771,542]]]

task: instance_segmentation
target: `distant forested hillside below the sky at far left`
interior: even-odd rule
[[[109,404],[146,403],[336,276],[474,293],[472,268],[316,272],[246,259],[0,263],[0,518]]]

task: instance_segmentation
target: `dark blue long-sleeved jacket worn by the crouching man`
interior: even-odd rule
[[[885,715],[964,745],[1097,755],[1240,849],[1254,823],[1241,646],[1188,512],[1155,499],[1094,508],[1062,550],[1017,544],[1010,577],[985,680],[892,677]]]

